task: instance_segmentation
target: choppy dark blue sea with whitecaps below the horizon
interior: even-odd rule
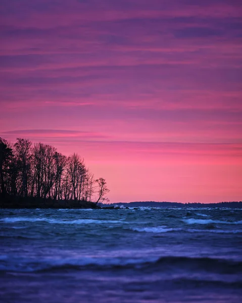
[[[0,210],[1,302],[242,302],[242,210]]]

